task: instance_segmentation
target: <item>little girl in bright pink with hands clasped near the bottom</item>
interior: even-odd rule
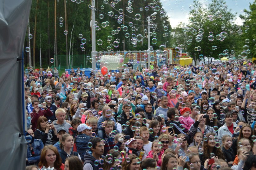
[[[153,141],[151,151],[149,151],[147,156],[147,158],[153,158],[159,167],[162,166],[162,154],[164,153],[162,148],[162,144],[159,144],[159,141]]]

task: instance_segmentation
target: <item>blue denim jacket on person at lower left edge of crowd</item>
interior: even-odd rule
[[[31,151],[30,151],[30,145],[28,144],[27,148],[27,158],[29,163],[36,163],[37,161],[40,160],[40,154],[41,150],[43,149],[43,142],[41,139],[34,139],[34,142],[32,143],[33,151],[35,153],[35,156],[31,156]]]

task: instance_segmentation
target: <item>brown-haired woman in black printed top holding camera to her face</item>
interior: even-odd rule
[[[35,139],[41,139],[43,145],[53,145],[58,141],[57,130],[51,120],[46,117],[40,116],[37,121],[37,129],[35,130]]]

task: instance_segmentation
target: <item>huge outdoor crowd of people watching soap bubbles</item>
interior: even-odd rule
[[[255,170],[256,65],[24,72],[27,170]]]

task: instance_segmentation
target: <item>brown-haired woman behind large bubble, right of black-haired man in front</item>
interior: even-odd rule
[[[121,157],[121,154],[120,154],[120,151],[115,151],[115,149],[110,149],[107,153],[108,154],[111,154],[112,155],[112,159],[114,161],[112,161],[111,163],[108,163],[108,162],[104,162],[103,164],[103,169],[104,170],[113,170],[114,169],[117,169],[117,166],[120,165],[120,163],[122,162],[122,157]]]

